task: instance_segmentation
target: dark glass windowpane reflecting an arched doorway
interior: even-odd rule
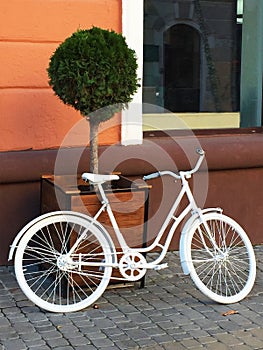
[[[242,8],[144,0],[144,113],[239,111]]]

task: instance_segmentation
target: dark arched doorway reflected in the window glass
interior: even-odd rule
[[[164,32],[164,107],[171,112],[200,110],[200,35],[186,24]]]

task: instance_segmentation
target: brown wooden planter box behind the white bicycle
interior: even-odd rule
[[[145,247],[147,242],[148,191],[150,187],[136,186],[131,179],[124,177],[108,186],[109,189],[106,190],[107,197],[127,244],[131,247]],[[101,203],[97,194],[88,184],[86,185],[83,182],[81,177],[76,180],[71,175],[42,176],[42,214],[54,210],[72,210],[94,216],[100,206]],[[119,250],[119,244],[106,211],[102,212],[98,221],[105,226],[117,250]],[[113,276],[121,277],[118,271],[114,271]],[[116,280],[113,280],[113,282],[116,283]],[[142,286],[143,284],[144,280]]]

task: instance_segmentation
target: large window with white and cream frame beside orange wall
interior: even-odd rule
[[[143,119],[131,113],[126,121],[142,122],[143,130],[176,129],[175,115],[193,129],[261,126],[263,1],[122,3],[123,32],[143,83],[135,99]]]

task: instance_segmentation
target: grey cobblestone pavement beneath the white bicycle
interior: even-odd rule
[[[232,305],[209,301],[182,275],[178,252],[149,271],[146,286],[107,290],[98,309],[45,312],[20,291],[12,268],[0,267],[0,349],[263,349],[263,246],[252,293]],[[222,313],[235,310],[236,314]]]

